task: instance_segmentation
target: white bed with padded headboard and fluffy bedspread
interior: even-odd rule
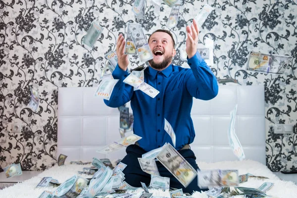
[[[94,97],[96,88],[59,88],[58,93],[58,150],[67,155],[64,166],[54,166],[36,177],[0,191],[0,198],[37,198],[44,190],[35,188],[43,177],[59,182],[77,174],[88,165],[69,164],[71,160],[91,161],[93,157],[115,161],[125,156],[125,149],[110,155],[96,150],[120,139],[119,111],[107,107],[101,98]],[[227,129],[230,111],[238,104],[236,133],[246,154],[238,161],[229,148]],[[197,156],[200,169],[238,169],[239,174],[251,173],[269,179],[249,179],[240,186],[258,188],[264,182],[274,183],[267,195],[278,198],[296,198],[297,186],[280,180],[265,166],[265,117],[263,86],[220,86],[215,99],[195,99],[192,119],[196,139],[191,148]],[[154,196],[167,196],[168,192],[152,191]],[[193,198],[207,198],[204,192]]]

